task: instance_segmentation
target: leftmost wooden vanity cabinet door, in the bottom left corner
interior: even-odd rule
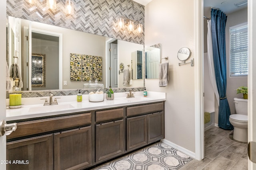
[[[52,135],[44,135],[6,145],[7,170],[53,170]]]

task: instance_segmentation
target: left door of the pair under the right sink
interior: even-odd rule
[[[127,150],[133,150],[147,144],[147,115],[127,118]]]

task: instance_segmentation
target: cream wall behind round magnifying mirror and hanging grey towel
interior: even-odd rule
[[[195,58],[194,0],[152,0],[145,6],[145,46],[161,43],[162,58],[169,57],[168,86],[146,79],[148,91],[166,92],[165,139],[195,152],[195,70],[178,66],[178,50],[188,47]]]

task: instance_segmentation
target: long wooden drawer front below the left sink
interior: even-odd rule
[[[12,132],[9,136],[7,136],[7,139],[91,124],[91,117],[91,113],[82,113],[76,115],[20,122],[17,123],[16,131]]]

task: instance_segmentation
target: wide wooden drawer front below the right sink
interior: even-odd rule
[[[143,113],[152,113],[152,112],[162,111],[162,110],[164,110],[163,102],[127,107],[126,114],[127,116],[133,116],[133,115],[139,115]]]

